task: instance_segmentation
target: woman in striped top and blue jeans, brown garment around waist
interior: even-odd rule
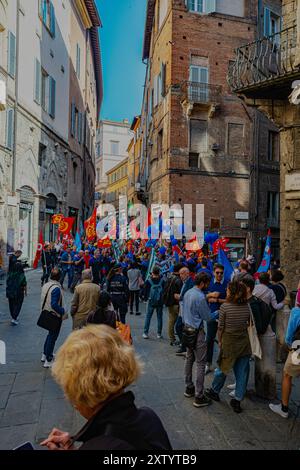
[[[247,390],[252,354],[248,335],[250,308],[247,297],[245,284],[240,281],[229,283],[226,302],[223,303],[219,312],[218,368],[215,370],[211,388],[205,392],[208,398],[220,401],[219,393],[228,373],[233,369],[236,388],[235,398],[231,399],[230,405],[235,413],[242,412],[241,401]]]

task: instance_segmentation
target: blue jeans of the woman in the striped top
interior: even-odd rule
[[[251,356],[239,357],[233,366],[236,380],[235,398],[238,401],[242,401],[246,394],[250,372],[250,357]],[[214,380],[211,386],[214,392],[220,393],[225,384],[226,377],[227,376],[219,368],[215,370]]]

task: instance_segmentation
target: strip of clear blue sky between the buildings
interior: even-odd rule
[[[104,81],[102,119],[130,121],[140,114],[146,67],[142,63],[146,0],[96,0]]]

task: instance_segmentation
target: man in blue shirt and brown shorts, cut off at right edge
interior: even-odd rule
[[[289,319],[285,342],[289,348],[289,355],[283,369],[281,403],[269,407],[282,418],[289,416],[289,401],[294,377],[300,377],[300,304],[292,309]]]

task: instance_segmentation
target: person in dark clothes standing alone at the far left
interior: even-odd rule
[[[19,315],[24,302],[24,296],[27,295],[27,281],[21,261],[21,250],[9,258],[8,274],[6,279],[6,297],[8,299],[9,311],[11,315],[11,324],[19,324]]]

